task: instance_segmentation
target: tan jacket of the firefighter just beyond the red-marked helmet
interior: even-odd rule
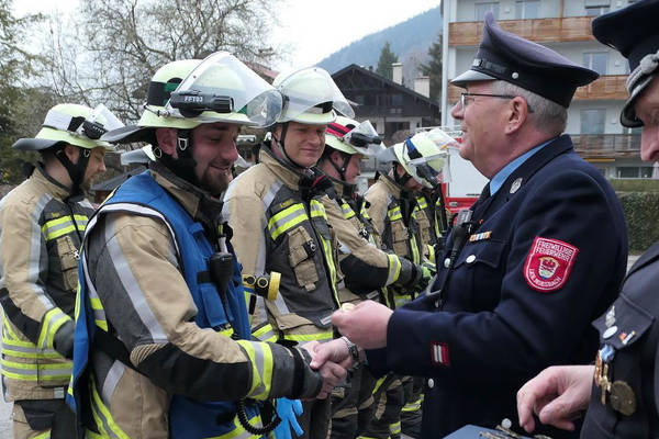
[[[382,236],[382,247],[413,263],[422,263],[424,241],[416,217],[423,213],[415,212],[414,194],[403,190],[388,176],[381,176],[366,192],[365,199],[370,203],[368,214],[372,224]],[[395,285],[388,290],[388,305],[391,307],[402,306],[416,293]]]

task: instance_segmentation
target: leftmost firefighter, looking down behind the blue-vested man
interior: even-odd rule
[[[78,248],[93,207],[83,198],[112,147],[99,140],[121,123],[103,106],[59,104],[34,138],[14,149],[41,161],[0,207],[2,382],[13,401],[13,437],[75,430],[64,396],[71,372]],[[52,431],[51,431],[52,429]]]

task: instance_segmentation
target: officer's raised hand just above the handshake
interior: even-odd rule
[[[387,326],[393,311],[373,301],[361,302],[350,311],[335,311],[332,324],[364,349],[387,347]]]

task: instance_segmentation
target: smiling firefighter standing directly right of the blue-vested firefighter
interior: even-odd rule
[[[336,243],[323,204],[332,182],[314,166],[335,110],[350,116],[353,110],[317,67],[280,74],[273,86],[283,95],[283,110],[260,147],[258,165],[232,182],[224,213],[243,273],[276,272],[281,279],[275,300],[258,297],[255,336],[288,346],[327,341],[339,304]],[[301,425],[304,437],[325,439],[330,402],[304,403]]]

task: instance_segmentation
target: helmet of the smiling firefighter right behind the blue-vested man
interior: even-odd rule
[[[326,125],[336,112],[355,117],[353,108],[330,74],[320,67],[309,67],[292,74],[279,74],[272,82],[283,95],[283,110],[277,122]]]

